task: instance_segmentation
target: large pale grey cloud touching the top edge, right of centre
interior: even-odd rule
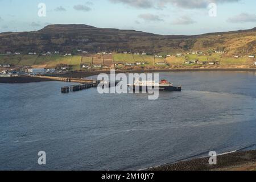
[[[184,9],[207,8],[210,3],[229,3],[239,2],[240,0],[109,0],[113,3],[123,3],[132,7],[148,9],[161,9],[168,4]]]

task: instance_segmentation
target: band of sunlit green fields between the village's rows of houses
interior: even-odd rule
[[[91,55],[93,56],[93,55]],[[61,56],[61,55],[51,55],[51,56],[36,56],[36,55],[0,55],[0,64],[13,64],[13,65],[27,65],[35,68],[55,68],[58,64],[72,65],[72,70],[80,70],[80,64],[92,63],[92,57],[90,55],[82,57],[76,56]],[[113,56],[113,57],[112,57]],[[150,55],[133,55],[133,54],[123,54],[114,53],[113,55],[105,55],[105,64],[108,67],[113,65],[113,60],[115,63],[135,63],[135,62],[147,62],[148,65],[154,65],[154,56]],[[184,55],[181,57],[170,56],[166,59],[156,57],[155,63],[167,63],[174,65],[183,65],[184,60],[201,60],[201,61],[220,61],[221,65],[239,65],[239,64],[254,64],[254,59],[247,56],[235,58],[233,56],[221,55],[219,53],[213,53],[212,55]],[[94,64],[102,64],[102,55],[94,55]]]

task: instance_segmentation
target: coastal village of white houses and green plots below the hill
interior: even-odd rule
[[[76,49],[73,52],[11,52],[0,54],[0,77],[49,75],[72,71],[115,69],[204,68],[221,65],[256,67],[255,54],[228,55],[226,51],[208,50],[182,53],[97,52]]]

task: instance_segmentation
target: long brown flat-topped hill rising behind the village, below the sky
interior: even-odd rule
[[[97,28],[84,24],[54,24],[39,31],[0,34],[0,52],[185,52],[220,49],[230,54],[256,52],[256,28],[203,35],[155,35],[135,30]]]

